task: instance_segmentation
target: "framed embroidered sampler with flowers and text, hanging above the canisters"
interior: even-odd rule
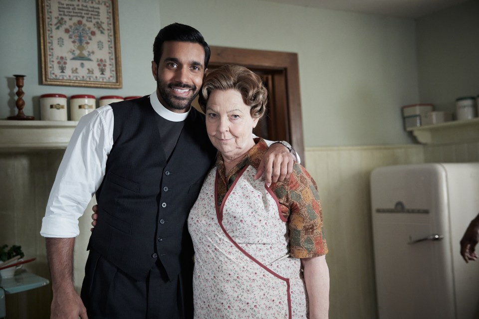
[[[41,84],[122,87],[117,0],[37,0]]]

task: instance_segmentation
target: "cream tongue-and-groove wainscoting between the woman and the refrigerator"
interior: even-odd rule
[[[369,175],[379,166],[423,161],[416,145],[306,149],[329,248],[330,318],[377,317]]]

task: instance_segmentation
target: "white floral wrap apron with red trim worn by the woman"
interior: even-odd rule
[[[255,174],[245,166],[218,207],[213,168],[191,209],[197,319],[306,318],[301,262],[289,257],[277,197]]]

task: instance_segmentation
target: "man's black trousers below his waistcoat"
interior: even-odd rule
[[[90,250],[81,299],[89,319],[193,318],[193,273],[169,279],[160,261],[136,281]]]

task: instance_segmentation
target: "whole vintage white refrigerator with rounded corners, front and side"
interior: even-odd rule
[[[459,244],[479,213],[479,163],[376,168],[371,204],[379,319],[479,319],[479,260]]]

